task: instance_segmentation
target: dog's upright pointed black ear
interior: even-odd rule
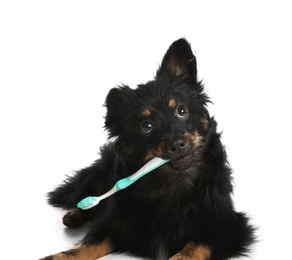
[[[186,39],[175,41],[168,49],[157,71],[157,77],[164,73],[171,75],[197,79],[197,62],[190,44]]]

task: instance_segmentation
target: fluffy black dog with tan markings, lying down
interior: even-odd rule
[[[93,165],[49,193],[50,204],[69,209],[66,226],[93,224],[74,249],[43,259],[93,260],[113,252],[171,260],[246,255],[254,228],[234,210],[231,169],[208,102],[185,39],[170,46],[154,80],[112,89],[105,127],[113,141]],[[76,208],[153,157],[170,161],[98,206]]]

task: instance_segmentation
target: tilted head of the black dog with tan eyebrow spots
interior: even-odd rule
[[[126,156],[144,161],[158,156],[185,170],[194,165],[210,128],[208,101],[191,46],[179,39],[169,47],[154,80],[136,89],[110,90],[105,127]]]

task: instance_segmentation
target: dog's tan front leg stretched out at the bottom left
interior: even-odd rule
[[[110,241],[99,244],[80,243],[75,248],[58,254],[50,255],[40,260],[95,260],[113,252]]]

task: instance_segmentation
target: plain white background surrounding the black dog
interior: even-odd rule
[[[152,79],[169,45],[186,37],[223,131],[236,208],[259,226],[248,259],[289,259],[290,5],[1,1],[1,255],[38,259],[81,239],[46,192],[97,158],[109,89]]]

